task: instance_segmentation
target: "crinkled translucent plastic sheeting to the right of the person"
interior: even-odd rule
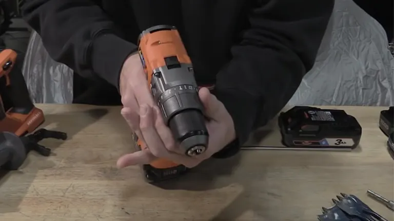
[[[394,57],[383,27],[353,1],[336,1],[314,67],[288,104],[394,105]]]

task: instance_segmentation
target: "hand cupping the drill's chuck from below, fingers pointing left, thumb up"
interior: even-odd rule
[[[122,156],[117,161],[117,167],[123,168],[131,165],[149,164],[157,158],[165,158],[186,167],[195,167],[202,161],[210,158],[235,139],[234,123],[223,103],[220,102],[208,89],[203,87],[199,91],[200,99],[205,107],[205,115],[209,119],[206,126],[209,132],[207,150],[196,157],[181,154],[179,145],[173,139],[171,130],[164,124],[163,118],[156,106],[142,105],[140,122],[135,112],[127,107],[122,109],[122,115],[131,128],[139,127],[142,138],[140,139],[148,148]],[[139,125],[135,125],[139,123]]]

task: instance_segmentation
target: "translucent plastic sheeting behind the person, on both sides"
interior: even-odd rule
[[[313,69],[289,105],[394,105],[394,57],[381,25],[352,0],[337,0]],[[23,73],[34,102],[71,103],[72,71],[32,33]]]

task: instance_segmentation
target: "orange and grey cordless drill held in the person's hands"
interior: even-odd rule
[[[204,106],[198,95],[192,63],[178,30],[173,26],[154,26],[141,33],[138,45],[153,99],[175,141],[189,157],[203,153],[209,137]],[[137,147],[147,148],[136,139]],[[143,166],[149,182],[174,178],[186,170],[185,166],[166,159]]]

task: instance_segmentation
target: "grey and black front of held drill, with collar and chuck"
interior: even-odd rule
[[[163,119],[171,127],[180,127],[173,131],[179,134],[175,137],[184,137],[186,130],[206,131],[204,122],[204,106],[199,98],[199,87],[194,79],[193,68],[190,64],[180,63],[179,67],[171,68],[160,67],[153,71],[151,80],[151,92],[156,101]],[[191,112],[192,111],[192,112]],[[176,126],[171,126],[174,116],[188,114],[176,122]],[[180,125],[183,124],[183,125]],[[187,129],[189,128],[189,129]],[[174,129],[173,129],[174,130]],[[175,129],[177,130],[177,129]],[[196,132],[192,136],[181,139],[180,145],[186,150],[187,155],[197,155],[205,151],[208,144],[207,132]]]

